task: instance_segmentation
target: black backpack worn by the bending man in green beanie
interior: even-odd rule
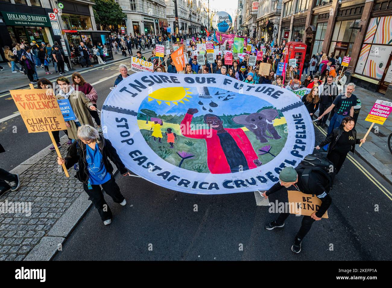
[[[334,164],[329,161],[327,158],[324,156],[318,155],[318,154],[309,154],[305,156],[305,158],[299,162],[298,166],[295,168],[295,170],[302,171],[302,182],[304,184],[304,187],[309,187],[309,174],[311,172],[317,172],[321,175],[323,175],[327,181],[328,184],[324,188],[327,190],[327,188],[331,187],[333,184],[334,180]],[[312,191],[307,191],[310,193],[313,193]]]

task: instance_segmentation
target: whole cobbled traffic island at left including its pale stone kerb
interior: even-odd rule
[[[60,139],[62,144],[67,140],[66,136]],[[69,169],[67,178],[59,170],[57,154],[48,150],[50,146],[10,171],[19,174],[21,187],[5,193],[0,203],[31,203],[31,213],[0,214],[0,261],[50,260],[92,204],[74,178],[76,171]],[[62,156],[67,150],[62,145]]]

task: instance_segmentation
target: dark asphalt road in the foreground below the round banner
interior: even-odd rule
[[[111,225],[104,226],[90,208],[54,260],[392,259],[391,200],[348,159],[331,192],[329,218],[313,224],[300,254],[290,247],[301,216],[290,215],[284,228],[265,230],[277,214],[270,214],[268,206],[256,206],[253,193],[194,195],[141,178],[118,176],[117,182],[128,203],[120,206],[105,196],[113,212]],[[277,192],[269,201],[276,199],[285,201],[287,194]]]

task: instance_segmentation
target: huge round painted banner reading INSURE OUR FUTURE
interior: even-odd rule
[[[218,74],[134,73],[111,91],[102,121],[129,170],[187,193],[267,190],[314,148],[298,96]]]

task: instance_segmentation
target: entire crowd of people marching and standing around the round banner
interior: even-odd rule
[[[145,48],[155,48],[157,44],[165,45],[166,41],[170,41],[172,44],[176,42],[180,44],[178,37],[181,39],[181,44],[184,45],[186,56],[186,65],[180,71],[177,70],[171,58],[172,53],[175,52],[174,47],[170,50],[170,54],[167,54],[167,57],[157,57],[155,50],[152,51],[151,57],[147,60],[142,55],[141,51],[145,50]],[[319,143],[316,149],[323,149],[327,152],[326,159],[335,169],[331,175],[319,174],[312,170],[305,175],[303,167],[296,167],[295,169],[292,167],[284,168],[279,175],[279,182],[263,193],[263,196],[267,197],[284,187],[286,189],[299,190],[305,194],[315,194],[321,199],[322,204],[319,211],[312,214],[312,216],[303,217],[301,228],[291,248],[293,252],[298,253],[301,251],[301,242],[309,232],[312,223],[321,219],[332,202],[328,192],[332,189],[332,182],[341,169],[348,152],[354,152],[356,144],[365,142],[365,139],[356,138],[355,120],[352,118],[354,114],[353,107],[357,101],[356,96],[353,94],[355,85],[348,83],[348,85],[343,87],[345,84],[344,79],[339,76],[339,71],[342,69],[342,60],[339,55],[330,54],[330,56],[327,56],[323,51],[311,57],[306,55],[302,71],[304,79],[301,81],[302,75],[298,65],[287,65],[286,69],[279,72],[278,68],[282,65],[279,63],[285,62],[283,59],[284,45],[258,41],[254,43],[256,52],[242,53],[237,59],[230,57],[230,60],[228,60],[228,57],[225,59],[224,50],[220,49],[222,52],[216,55],[212,63],[208,63],[207,53],[203,53],[204,61],[200,63],[200,59],[198,61],[197,56],[200,55],[201,51],[197,51],[196,47],[198,43],[205,43],[205,40],[205,38],[198,38],[197,35],[189,34],[173,36],[172,38],[161,34],[112,35],[109,37],[114,53],[120,53],[121,50],[124,56],[127,56],[127,53],[128,55],[133,55],[132,49],[136,49],[136,58],[153,63],[154,72],[179,74],[213,73],[236,78],[241,82],[252,85],[269,84],[278,86],[279,89],[292,91],[302,88],[308,89],[309,92],[300,99],[310,117],[318,119],[317,125],[326,126],[327,119],[329,118],[330,120],[327,137]],[[215,44],[219,45],[218,43]],[[92,45],[89,41],[86,41],[81,42],[78,47],[71,45],[71,52],[76,53],[78,51],[83,64],[93,66],[90,60],[94,56],[97,58],[98,63],[105,63],[105,48],[105,45],[101,45],[101,43]],[[226,44],[224,48],[229,50],[230,47]],[[265,49],[262,59],[258,60],[255,65],[249,65],[249,56],[256,56],[257,51],[261,49]],[[105,225],[110,224],[112,213],[110,208],[104,209],[107,203],[103,198],[100,186],[113,198],[115,203],[125,205],[126,200],[115,183],[112,173],[113,167],[108,159],[113,161],[123,176],[129,175],[129,172],[111,145],[110,140],[102,136],[101,121],[96,105],[98,92],[77,72],[72,74],[71,81],[63,76],[65,74],[64,52],[56,42],[53,47],[50,44],[45,45],[45,43],[38,45],[34,41],[32,45],[15,44],[12,49],[6,46],[5,55],[7,60],[11,62],[12,71],[15,73],[18,71],[24,72],[31,80],[31,83],[38,82],[39,89],[55,88],[53,83],[45,78],[38,80],[36,72],[37,68],[44,68],[47,71],[46,74],[51,74],[49,72],[49,64],[53,62],[55,71],[60,74],[60,77],[54,83],[57,88],[56,98],[69,100],[76,116],[75,120],[66,121],[67,130],[64,130],[64,133],[67,135],[68,140],[64,145],[69,146],[69,149],[65,158],[58,158],[58,164],[65,164],[67,168],[74,167],[77,170],[76,177],[83,183],[83,188],[98,209],[102,221]],[[93,57],[91,57],[92,55]],[[20,67],[17,65],[18,63]],[[270,64],[267,75],[259,73],[261,63]],[[120,74],[115,79],[114,86],[117,86],[130,76],[129,69],[125,64],[120,64],[119,71]],[[319,112],[316,116],[317,111]],[[53,134],[56,145],[60,147],[59,131]],[[55,147],[53,146],[49,149],[55,150]],[[89,165],[97,167],[100,177],[96,176],[98,175],[97,173],[91,173]],[[307,176],[306,179],[308,180],[303,178],[305,176]],[[16,190],[18,185],[20,185],[16,174],[9,174],[2,169],[0,169],[0,179],[1,194],[7,189]],[[6,183],[4,180],[9,183]],[[283,227],[284,221],[288,216],[289,213],[281,213],[276,221],[267,223],[265,228],[272,230]]]

